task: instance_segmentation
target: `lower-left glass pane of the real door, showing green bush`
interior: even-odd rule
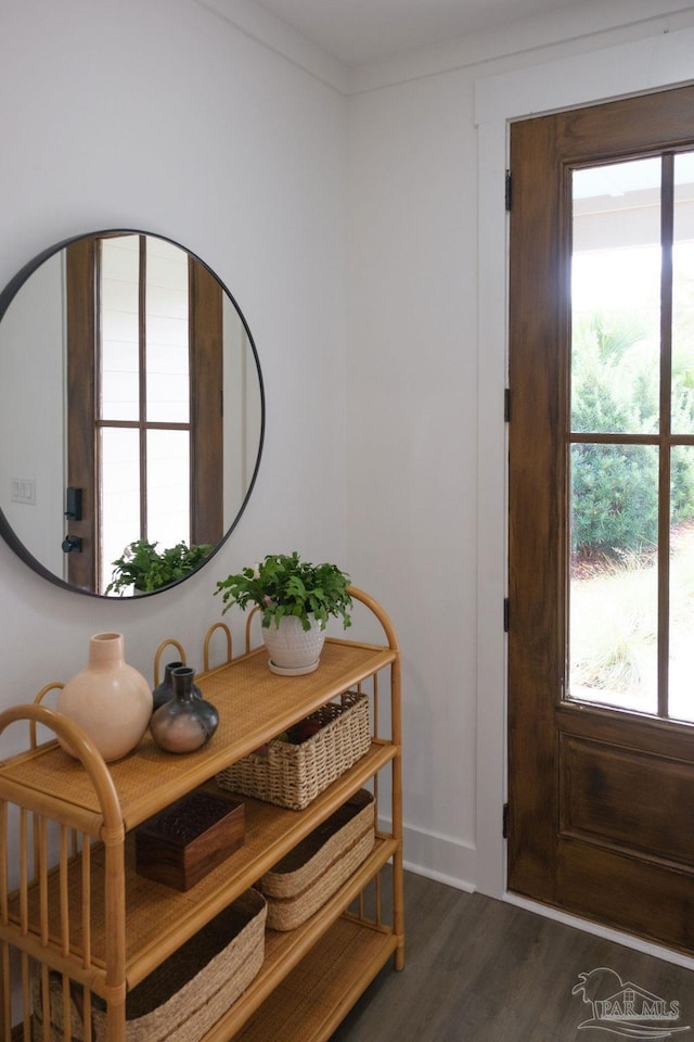
[[[658,456],[571,446],[570,699],[657,712]]]

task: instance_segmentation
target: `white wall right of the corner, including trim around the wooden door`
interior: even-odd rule
[[[574,8],[358,69],[348,117],[348,559],[403,648],[406,862],[497,897],[506,119],[661,86],[664,48],[694,77],[692,4]]]

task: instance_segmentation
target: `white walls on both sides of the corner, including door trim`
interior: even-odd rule
[[[344,561],[403,647],[407,860],[503,892],[505,116],[478,128],[476,97],[537,75],[525,112],[552,109],[570,68],[580,103],[593,61],[604,97],[631,90],[608,49],[694,24],[668,7],[588,0],[343,76],[243,0],[4,0],[0,281],[91,228],[180,241],[246,315],[268,430],[236,533],[180,592],[91,601],[0,547],[0,702],[97,630],[142,669],[163,635],[198,648],[214,577],[270,549]]]

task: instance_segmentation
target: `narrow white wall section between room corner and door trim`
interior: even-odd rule
[[[462,87],[436,76],[351,99],[347,475],[350,568],[403,647],[406,857],[472,881],[476,160]]]

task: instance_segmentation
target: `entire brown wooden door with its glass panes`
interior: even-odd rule
[[[670,499],[679,457],[694,452],[692,428],[678,427],[672,409],[672,358],[684,358],[686,368],[694,321],[679,307],[685,317],[673,332],[671,258],[677,269],[672,170],[680,154],[692,151],[692,87],[525,120],[511,132],[509,887],[687,952],[694,951],[694,732],[684,721],[692,720],[694,696],[670,697],[673,634],[678,625],[680,635],[687,633],[677,597],[689,582],[674,575],[679,529]],[[661,168],[665,200],[657,203],[659,359],[642,381],[644,395],[655,384],[656,414],[581,424],[571,401],[574,175],[642,157]],[[596,215],[593,233],[606,228],[605,213]],[[685,245],[684,218],[680,227]],[[633,231],[633,224],[625,225],[626,246],[638,246]],[[600,348],[612,350],[605,340]],[[619,366],[615,371],[618,382]],[[626,386],[626,368],[621,374]],[[678,386],[686,392],[690,378],[694,386],[694,370],[678,372]],[[647,665],[638,662],[645,692],[639,699],[630,681],[622,697],[619,684],[603,674],[581,675],[579,683],[569,669],[579,648],[571,487],[581,453],[599,460],[590,473],[611,473],[617,461],[647,476],[643,504],[627,482],[611,506],[630,508],[638,519],[653,514],[654,543],[639,546],[633,568],[639,586],[632,601],[645,612],[647,633],[655,633]],[[591,492],[581,486],[578,495],[584,506]],[[599,561],[603,574],[613,551],[607,541]],[[624,555],[615,571],[626,574]],[[601,597],[609,608],[612,596],[599,590],[583,606],[586,618],[597,615]],[[603,628],[622,621],[626,609],[615,603]]]

